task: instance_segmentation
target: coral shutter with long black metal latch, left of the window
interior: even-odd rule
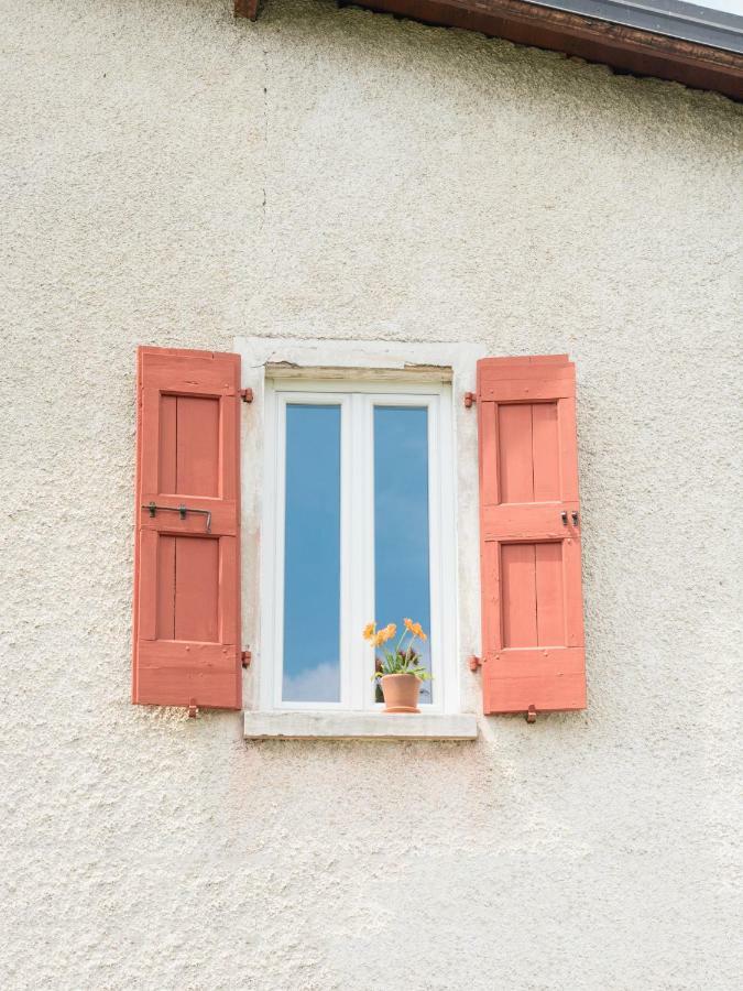
[[[239,709],[240,358],[140,348],[138,401],[133,700]]]

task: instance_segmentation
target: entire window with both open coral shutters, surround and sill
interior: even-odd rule
[[[474,739],[474,716],[458,708],[465,652],[472,671],[483,666],[485,715],[534,721],[537,710],[584,708],[568,356],[487,358],[440,342],[238,345],[240,353],[138,349],[133,700],[189,715],[240,709],[247,628],[259,658],[250,739]],[[312,368],[324,381],[302,381]],[[477,422],[462,388],[476,375]],[[465,393],[457,468],[450,388]],[[244,415],[239,393],[265,403]],[[433,719],[373,711],[374,657],[360,632],[374,613],[400,625],[406,612],[429,628],[424,660],[436,680],[423,705]],[[319,707],[341,711],[308,711]]]

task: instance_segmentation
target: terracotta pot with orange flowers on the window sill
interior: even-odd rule
[[[382,686],[384,707],[387,712],[419,712],[418,693],[420,682],[430,679],[430,674],[420,664],[420,654],[414,647],[416,640],[425,641],[420,623],[404,620],[405,629],[392,650],[384,646],[397,633],[394,623],[381,630],[376,623],[364,627],[363,639],[379,651],[372,679]],[[380,650],[381,649],[381,650]]]

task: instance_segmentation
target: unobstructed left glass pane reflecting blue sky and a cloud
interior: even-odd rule
[[[284,701],[340,701],[340,406],[286,406]]]

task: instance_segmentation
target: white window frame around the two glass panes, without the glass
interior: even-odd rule
[[[272,379],[264,383],[264,493],[262,520],[261,628],[264,711],[374,711],[373,651],[361,630],[373,616],[373,410],[375,405],[428,409],[430,638],[434,701],[422,711],[459,711],[457,669],[457,548],[451,385],[394,379]],[[341,697],[338,703],[289,703],[281,698],[285,415],[288,402],[341,406]],[[350,571],[350,560],[354,573]],[[352,591],[351,591],[352,590]],[[385,617],[376,617],[380,622]],[[415,619],[415,617],[414,617]]]

